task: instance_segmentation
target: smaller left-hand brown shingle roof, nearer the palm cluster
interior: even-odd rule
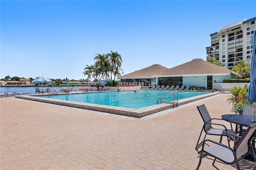
[[[155,74],[164,70],[168,70],[168,68],[161,66],[160,64],[153,64],[152,66],[123,75],[120,77],[120,79],[152,78]]]

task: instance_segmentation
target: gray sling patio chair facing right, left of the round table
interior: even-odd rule
[[[198,148],[203,144],[203,141],[204,141],[204,139],[205,139],[207,134],[208,135],[218,135],[218,136],[221,136],[222,133],[228,132],[228,133],[232,133],[232,134],[236,135],[236,132],[233,131],[233,129],[232,129],[231,123],[230,123],[231,129],[227,129],[226,126],[224,126],[222,124],[212,123],[213,119],[215,119],[215,120],[222,120],[222,121],[224,121],[224,120],[223,119],[218,119],[218,118],[211,118],[210,114],[209,114],[209,112],[206,109],[204,104],[200,105],[200,106],[196,106],[196,107],[197,107],[197,109],[198,109],[198,111],[199,111],[199,113],[200,113],[200,115],[201,115],[201,117],[202,117],[202,119],[204,121],[204,125],[202,127],[201,133],[200,133],[198,141],[196,143],[196,150],[198,150]],[[214,125],[214,127],[216,127],[216,126],[222,127],[222,129],[215,129],[215,128],[212,127],[212,125]],[[204,139],[203,139],[202,142],[199,143],[203,130],[205,132]],[[227,138],[228,138],[228,145],[230,146],[229,141],[230,140],[234,141],[234,137],[228,137],[227,136]],[[229,138],[230,138],[230,140],[229,140]]]

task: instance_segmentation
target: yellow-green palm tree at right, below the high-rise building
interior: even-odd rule
[[[235,63],[236,66],[234,66],[234,68],[232,68],[232,71],[238,72],[239,74],[241,74],[241,76],[244,77],[245,82],[246,82],[246,75],[250,73],[250,63],[247,63],[247,61],[250,59],[247,58],[246,60],[241,60],[238,58],[239,62]]]

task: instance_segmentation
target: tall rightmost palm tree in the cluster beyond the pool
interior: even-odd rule
[[[114,73],[114,71],[116,70],[115,67],[120,68],[122,66],[122,57],[120,54],[118,54],[118,52],[114,52],[114,51],[110,51],[110,53],[108,53],[107,56],[109,57],[110,63],[111,63],[111,66],[110,66],[111,77],[110,78],[112,80],[112,73]],[[115,75],[114,75],[114,79],[115,79]]]

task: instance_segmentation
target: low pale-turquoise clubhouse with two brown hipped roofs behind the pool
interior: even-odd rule
[[[167,68],[162,71],[155,70],[154,68],[150,69],[150,67],[142,70],[145,71],[138,70],[121,76],[121,82],[125,82],[128,78],[128,80],[135,79],[139,82],[139,80],[143,79],[138,79],[138,77],[146,78],[144,75],[147,75],[148,80],[151,80],[151,86],[154,84],[160,86],[184,85],[212,89],[214,83],[222,83],[224,79],[237,78],[237,76],[242,77],[237,72],[209,63],[203,59],[193,59],[187,63],[180,64],[170,69]]]

